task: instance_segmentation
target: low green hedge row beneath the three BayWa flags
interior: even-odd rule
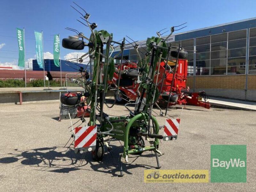
[[[45,81],[45,86],[48,86],[48,81]],[[51,87],[60,87],[60,81],[50,81]],[[0,87],[25,87],[25,81],[20,79],[0,80]],[[44,87],[44,79],[36,79],[27,82],[27,87]]]

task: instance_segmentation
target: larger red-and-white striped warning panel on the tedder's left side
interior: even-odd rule
[[[96,148],[97,125],[76,127],[74,147],[93,151]]]

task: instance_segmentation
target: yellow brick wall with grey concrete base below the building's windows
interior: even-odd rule
[[[191,92],[205,91],[210,96],[256,101],[256,75],[189,76]]]

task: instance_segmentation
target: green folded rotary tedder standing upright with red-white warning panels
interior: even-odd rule
[[[81,8],[80,6],[78,7]],[[76,8],[74,9],[78,11]],[[82,10],[84,11],[84,9]],[[79,13],[82,14],[81,12]],[[84,36],[83,33],[68,28],[76,32],[77,35],[69,36],[62,40],[62,46],[67,49],[83,50],[84,47],[89,48],[89,51],[78,59],[79,62],[83,62],[84,59],[90,58],[88,65],[90,64],[91,70],[89,74],[84,68],[80,68],[80,72],[83,74],[84,78],[83,80],[80,78],[80,83],[78,83],[84,88],[84,93],[79,95],[80,97],[84,96],[85,99],[77,99],[75,106],[77,107],[86,102],[86,112],[90,113],[90,121],[82,127],[75,128],[73,128],[71,122],[75,153],[85,153],[89,151],[92,152],[94,160],[101,161],[104,155],[104,144],[108,146],[106,137],[110,136],[124,142],[123,153],[120,155],[120,176],[123,176],[122,163],[128,162],[129,155],[141,154],[144,151],[154,151],[157,162],[156,168],[159,169],[160,164],[158,156],[163,155],[159,151],[159,140],[176,140],[180,124],[180,119],[167,118],[165,125],[159,127],[156,117],[151,115],[152,108],[162,92],[164,83],[164,81],[162,81],[157,84],[160,70],[159,64],[164,61],[166,63],[174,62],[177,65],[179,54],[184,56],[188,53],[180,46],[173,47],[166,44],[166,40],[174,32],[174,27],[172,27],[170,35],[166,38],[161,38],[161,35],[157,33],[157,37],[153,36],[147,39],[145,59],[141,58],[138,52],[138,45],[136,44],[135,47],[139,57],[136,69],[121,70],[125,38],[123,38],[121,43],[114,41],[112,33],[106,30],[95,30],[97,24],[88,21],[90,17],[89,13],[85,12],[85,14],[82,15],[83,17],[81,17],[81,19],[83,19],[86,24],[82,23],[90,28],[91,36],[88,38]],[[115,48],[114,44],[120,46],[120,52],[111,57]],[[105,54],[103,53],[103,49],[106,50]],[[177,58],[176,61],[170,61],[170,56],[175,56]],[[114,60],[116,57],[121,58],[118,80],[116,81],[117,94],[115,95],[113,104],[109,106],[109,103],[105,101],[105,97],[108,91],[108,81],[112,80],[115,72]],[[166,71],[166,69],[167,64],[164,70]],[[127,107],[128,103],[125,104],[124,107],[129,111],[129,115],[110,117],[104,112],[104,108],[112,108],[115,105],[119,93],[120,77],[123,74],[126,74],[128,78],[136,79],[136,83],[139,84],[137,100],[134,103],[135,109],[133,111],[130,110]],[[155,75],[156,81],[154,81]],[[76,97],[79,97],[79,95],[76,95]],[[172,95],[169,95],[169,97],[171,96]],[[72,99],[72,94],[70,98],[69,95],[67,95],[66,99]],[[83,117],[81,120],[82,123],[85,123]],[[160,128],[164,128],[162,135],[159,134]],[[143,138],[148,141],[148,146]]]

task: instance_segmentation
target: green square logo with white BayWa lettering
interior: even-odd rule
[[[211,182],[246,182],[246,145],[211,146]]]

